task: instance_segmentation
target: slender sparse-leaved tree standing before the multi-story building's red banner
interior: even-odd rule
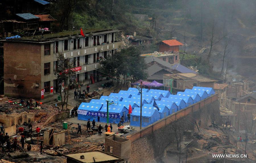
[[[57,55],[57,68],[54,72],[56,76],[56,84],[61,86],[61,90],[58,95],[61,96],[61,108],[68,104],[68,99],[71,93],[69,92],[69,87],[75,82],[75,71],[73,71],[73,61],[65,59],[63,53],[58,53]],[[64,83],[64,84],[63,84]]]

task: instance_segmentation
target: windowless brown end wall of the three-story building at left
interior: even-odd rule
[[[4,93],[13,97],[40,99],[41,45],[4,43]]]

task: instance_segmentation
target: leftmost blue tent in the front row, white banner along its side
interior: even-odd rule
[[[82,102],[77,110],[77,119],[88,121],[88,119],[96,119],[98,121],[98,111],[102,108],[102,104],[92,104]]]

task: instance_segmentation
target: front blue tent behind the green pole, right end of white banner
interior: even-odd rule
[[[109,115],[108,115],[109,123],[113,123],[113,122],[119,123],[119,121],[121,121],[121,116],[124,117],[124,121],[127,121],[128,109],[121,104],[109,105],[108,112],[109,112]],[[103,105],[99,113],[101,114],[100,122],[106,123],[107,122],[107,105]]]

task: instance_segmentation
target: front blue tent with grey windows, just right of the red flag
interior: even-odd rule
[[[159,120],[159,113],[157,110],[148,108],[134,108],[131,113],[131,123],[130,126],[140,126],[140,116],[142,115],[142,127],[146,127]]]

